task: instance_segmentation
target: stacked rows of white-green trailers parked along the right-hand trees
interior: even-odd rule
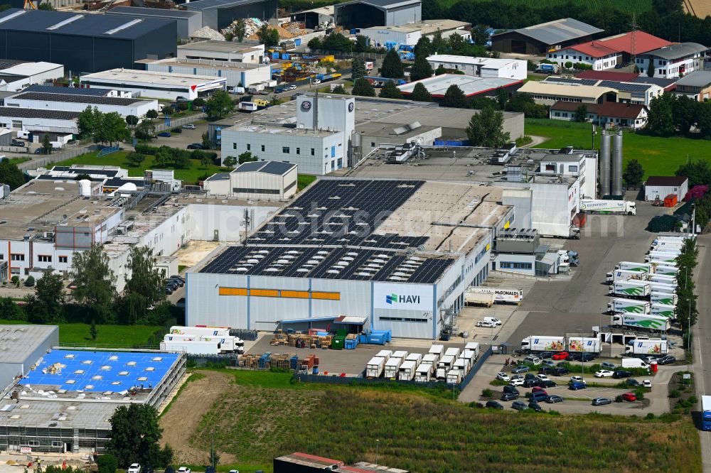
[[[685,239],[690,234],[660,234],[653,241],[644,263],[621,261],[607,273],[609,294],[617,296],[607,305],[616,327],[666,331],[675,318],[678,266]],[[619,297],[621,296],[621,297]]]

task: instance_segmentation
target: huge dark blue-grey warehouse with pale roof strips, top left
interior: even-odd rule
[[[174,21],[9,9],[0,13],[0,58],[56,62],[65,72],[135,67],[176,55]]]

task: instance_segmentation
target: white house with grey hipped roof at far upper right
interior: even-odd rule
[[[673,79],[703,69],[708,48],[699,43],[677,43],[637,56],[636,65],[642,72],[652,64],[653,77]]]

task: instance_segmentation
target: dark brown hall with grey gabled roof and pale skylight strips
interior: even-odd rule
[[[593,36],[602,32],[600,28],[574,18],[561,18],[494,34],[491,36],[491,48],[501,53],[545,55],[552,49],[592,40]]]

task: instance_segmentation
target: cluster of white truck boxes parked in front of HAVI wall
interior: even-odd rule
[[[445,381],[459,384],[469,374],[479,358],[479,343],[469,342],[464,349],[433,344],[427,354],[407,353],[404,350],[380,350],[365,366],[365,376],[399,381]]]

